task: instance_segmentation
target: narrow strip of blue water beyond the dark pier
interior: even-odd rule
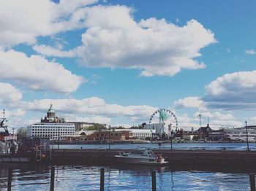
[[[52,147],[52,146],[51,146]],[[57,148],[53,145],[53,148]],[[60,144],[60,149],[108,149],[108,144]],[[111,149],[135,149],[137,147],[146,147],[151,149],[159,149],[158,144],[111,144]],[[227,149],[227,150],[246,150],[246,143],[175,143],[173,149]],[[251,150],[256,150],[255,143],[249,143]],[[170,144],[161,144],[161,149],[170,149]]]

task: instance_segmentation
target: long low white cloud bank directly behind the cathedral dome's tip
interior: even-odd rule
[[[65,114],[80,114],[103,116],[103,117],[124,117],[129,120],[148,120],[157,108],[152,106],[121,106],[108,104],[102,98],[91,97],[84,99],[42,99],[31,102],[23,102],[23,108],[30,111],[45,112],[50,104],[58,112]],[[135,118],[134,118],[135,117]],[[95,118],[96,119],[96,118]]]

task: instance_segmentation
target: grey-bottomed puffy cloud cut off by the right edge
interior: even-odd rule
[[[225,74],[206,86],[202,98],[208,107],[222,109],[256,108],[256,71]]]

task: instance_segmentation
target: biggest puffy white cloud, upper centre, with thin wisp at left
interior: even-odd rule
[[[203,69],[204,63],[195,58],[200,49],[216,42],[197,20],[183,27],[154,17],[136,22],[126,6],[86,7],[79,17],[87,28],[80,47],[67,52],[38,45],[34,50],[50,56],[77,55],[87,67],[140,69],[141,76],[152,77]]]

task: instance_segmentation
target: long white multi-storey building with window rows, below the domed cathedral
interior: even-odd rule
[[[72,123],[39,122],[27,128],[26,136],[49,137],[51,140],[63,140],[66,136],[75,135]]]

